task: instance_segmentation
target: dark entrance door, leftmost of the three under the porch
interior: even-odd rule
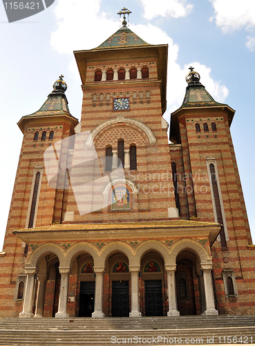
[[[82,281],[79,293],[79,317],[91,317],[94,312],[95,282]]]

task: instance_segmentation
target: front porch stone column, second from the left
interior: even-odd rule
[[[60,288],[59,288],[59,309],[55,313],[55,318],[68,318],[69,314],[66,312],[68,284],[69,284],[69,267],[59,267],[61,274]]]

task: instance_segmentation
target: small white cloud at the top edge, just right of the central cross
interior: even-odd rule
[[[185,17],[191,12],[193,5],[186,0],[141,0],[144,7],[143,17],[153,19],[155,17]]]

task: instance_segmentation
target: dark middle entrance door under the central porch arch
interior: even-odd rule
[[[129,281],[113,281],[111,314],[129,317]]]

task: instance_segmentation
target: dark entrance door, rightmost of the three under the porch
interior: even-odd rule
[[[162,281],[145,280],[144,287],[146,316],[163,316]]]

